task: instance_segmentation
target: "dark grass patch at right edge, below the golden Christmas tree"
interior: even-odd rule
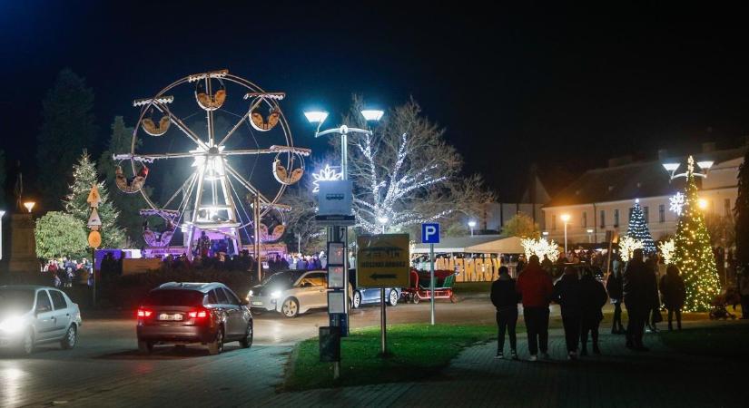
[[[665,345],[685,355],[730,359],[749,357],[749,325],[743,323],[662,331],[661,338]]]

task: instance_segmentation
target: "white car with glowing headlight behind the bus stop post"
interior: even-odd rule
[[[277,272],[252,287],[247,299],[255,312],[275,311],[286,317],[325,308],[328,307],[328,272],[295,269]]]

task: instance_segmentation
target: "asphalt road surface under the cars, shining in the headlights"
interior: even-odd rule
[[[429,322],[429,302],[388,307],[388,323]],[[0,356],[0,406],[218,406],[251,404],[275,393],[292,345],[328,325],[324,310],[294,319],[255,315],[250,349],[222,355],[200,346],[157,346],[139,355],[133,318],[87,318],[73,350],[42,345],[28,358]],[[379,306],[350,315],[351,327],[379,325]],[[492,323],[487,299],[437,304],[438,323]]]

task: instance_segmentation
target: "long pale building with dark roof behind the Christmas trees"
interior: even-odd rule
[[[715,151],[714,146],[705,143],[703,151],[695,154],[695,161],[713,161],[707,177],[697,180],[699,196],[705,200],[705,215],[728,217],[736,203],[738,171],[747,146],[725,151]],[[683,172],[686,157],[669,157],[665,151],[659,151],[658,156],[658,160],[638,162],[627,158],[609,160],[605,169],[586,171],[544,207],[548,238],[564,241],[563,215],[569,216],[569,245],[604,242],[606,231],[624,235],[636,199],[655,240],[675,234],[678,215],[670,209],[670,198],[677,191],[684,191],[685,179],[670,180],[663,163],[682,163],[677,172]]]

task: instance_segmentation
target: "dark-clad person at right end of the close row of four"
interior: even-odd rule
[[[598,325],[604,319],[601,307],[606,305],[608,296],[606,296],[606,289],[596,280],[596,277],[593,276],[593,271],[590,269],[586,269],[583,272],[583,276],[580,277],[580,296],[582,296],[582,314],[580,319],[580,343],[582,347],[580,348],[580,355],[587,355],[588,332],[590,332],[593,341],[593,353],[600,355],[601,350],[598,348]]]

